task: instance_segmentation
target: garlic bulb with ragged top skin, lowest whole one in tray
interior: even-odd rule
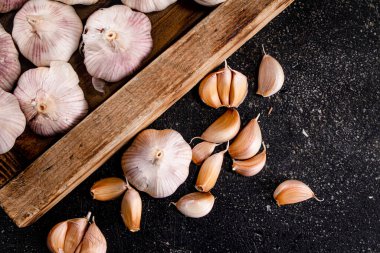
[[[14,91],[28,125],[37,134],[62,133],[82,119],[88,109],[78,75],[67,62],[51,62],[23,73]]]

